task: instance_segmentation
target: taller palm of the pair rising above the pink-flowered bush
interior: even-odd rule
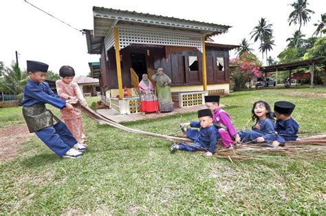
[[[254,42],[256,42],[259,39],[261,42],[260,46],[262,47],[263,38],[271,37],[272,33],[273,33],[272,24],[268,24],[265,18],[261,17],[261,20],[259,21],[258,25],[254,27],[252,32],[250,32],[250,34],[252,34],[250,39],[254,38]],[[261,53],[263,56],[263,51]]]

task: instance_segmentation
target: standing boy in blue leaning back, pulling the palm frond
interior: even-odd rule
[[[24,87],[24,98],[21,101],[23,116],[28,130],[34,132],[39,139],[58,156],[78,158],[83,156],[85,146],[77,143],[65,123],[55,117],[45,104],[51,104],[59,109],[73,110],[71,104],[58,98],[49,84],[44,82],[48,65],[42,62],[27,61],[30,80]]]

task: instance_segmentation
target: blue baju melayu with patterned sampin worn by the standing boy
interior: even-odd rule
[[[77,143],[65,123],[55,117],[45,104],[51,104],[56,108],[65,108],[66,101],[58,98],[51,90],[47,82],[37,83],[32,80],[24,88],[23,116],[30,132],[47,145],[58,156],[63,156]]]

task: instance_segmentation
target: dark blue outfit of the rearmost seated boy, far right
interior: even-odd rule
[[[275,131],[277,132],[276,141],[285,143],[285,141],[296,141],[298,136],[299,125],[290,117],[285,121],[278,119],[275,124]]]

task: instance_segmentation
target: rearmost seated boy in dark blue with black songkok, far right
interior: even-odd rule
[[[287,101],[277,101],[274,104],[274,112],[276,117],[275,134],[276,139],[272,145],[274,147],[285,144],[285,141],[296,141],[298,136],[299,125],[292,119],[291,114],[295,105]]]

